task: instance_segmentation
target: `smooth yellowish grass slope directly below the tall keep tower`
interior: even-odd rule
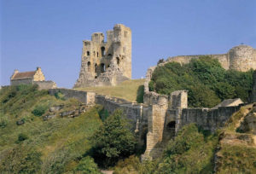
[[[104,96],[115,96],[130,102],[143,102],[144,79],[131,79],[116,86],[79,88],[77,90],[96,91]]]

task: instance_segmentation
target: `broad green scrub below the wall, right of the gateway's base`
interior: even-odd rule
[[[171,140],[157,173],[212,173],[218,136],[204,136],[195,124],[186,125]]]

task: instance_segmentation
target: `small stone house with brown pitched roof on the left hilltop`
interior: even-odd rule
[[[56,88],[55,82],[45,81],[41,67],[37,67],[37,70],[32,72],[19,72],[15,70],[15,73],[10,78],[10,84],[38,84],[39,90]]]

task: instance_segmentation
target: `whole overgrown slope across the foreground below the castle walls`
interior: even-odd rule
[[[61,100],[61,94],[49,96],[46,90],[26,85],[4,87],[0,90],[0,103],[3,173],[99,173],[94,161],[104,161],[92,154],[96,152],[93,149],[119,159],[113,170],[120,174],[256,172],[256,128],[252,124],[256,120],[256,104],[241,107],[224,129],[213,135],[194,124],[184,126],[159,159],[141,163],[139,156],[123,159],[123,154],[117,153],[113,144],[125,147],[120,144],[127,145],[127,141],[118,140],[128,136],[124,136],[122,124],[116,125],[121,120],[113,119],[114,114],[102,124],[104,111],[100,106],[73,119],[57,116],[44,121],[42,117],[49,113],[49,107],[68,106],[64,109],[67,111],[80,102]],[[91,141],[92,137],[97,137],[96,141]]]

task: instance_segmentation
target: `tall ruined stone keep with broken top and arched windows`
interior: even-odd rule
[[[95,32],[83,41],[82,62],[74,88],[116,85],[131,78],[131,29],[122,24],[107,32]]]

